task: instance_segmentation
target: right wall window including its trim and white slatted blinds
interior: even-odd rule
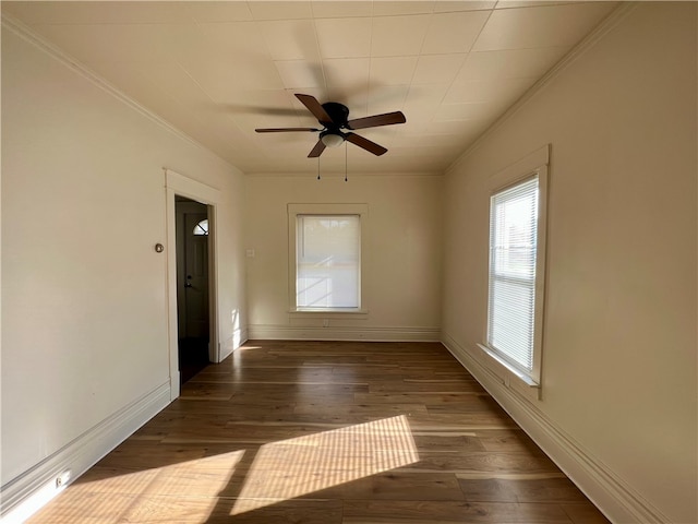
[[[482,347],[540,386],[545,276],[547,147],[493,177],[486,341]],[[538,166],[538,167],[533,167]]]

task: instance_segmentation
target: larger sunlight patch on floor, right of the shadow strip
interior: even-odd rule
[[[413,464],[404,415],[260,448],[231,515]]]

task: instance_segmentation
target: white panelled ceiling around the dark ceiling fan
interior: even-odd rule
[[[314,171],[294,93],[388,148],[325,150],[323,170],[443,172],[616,7],[553,1],[2,2],[3,14],[245,172]]]

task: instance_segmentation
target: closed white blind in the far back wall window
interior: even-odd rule
[[[359,215],[298,215],[296,303],[298,308],[359,308],[361,229]]]

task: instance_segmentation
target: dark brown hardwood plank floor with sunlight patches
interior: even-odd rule
[[[609,521],[441,344],[251,341],[29,522]]]

